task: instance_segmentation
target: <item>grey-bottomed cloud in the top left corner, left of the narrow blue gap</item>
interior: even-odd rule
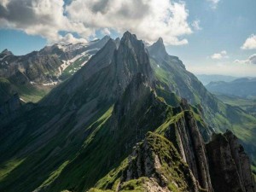
[[[49,43],[61,39],[58,32],[85,31],[81,23],[73,22],[63,15],[62,0],[6,0],[0,2],[0,25],[41,35]],[[88,34],[89,35],[89,34]],[[62,37],[63,38],[63,37]]]

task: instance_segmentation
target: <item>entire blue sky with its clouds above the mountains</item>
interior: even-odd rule
[[[0,0],[0,50],[24,55],[47,44],[115,38],[129,30],[149,43],[162,37],[168,53],[193,73],[256,76],[255,0],[126,2]]]

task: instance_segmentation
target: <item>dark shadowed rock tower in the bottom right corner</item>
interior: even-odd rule
[[[213,135],[207,154],[215,191],[255,192],[249,158],[231,131]]]

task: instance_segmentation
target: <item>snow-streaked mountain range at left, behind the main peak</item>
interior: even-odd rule
[[[9,82],[24,102],[38,102],[55,84],[84,66],[108,39],[106,36],[88,44],[54,44],[20,56],[4,49],[0,54],[0,84],[5,86],[4,82]],[[9,98],[5,97],[3,102]]]

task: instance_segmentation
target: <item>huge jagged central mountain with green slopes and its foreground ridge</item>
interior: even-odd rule
[[[14,109],[0,114],[1,191],[255,191],[239,144],[253,157],[255,119],[212,96],[161,38],[110,38]]]

